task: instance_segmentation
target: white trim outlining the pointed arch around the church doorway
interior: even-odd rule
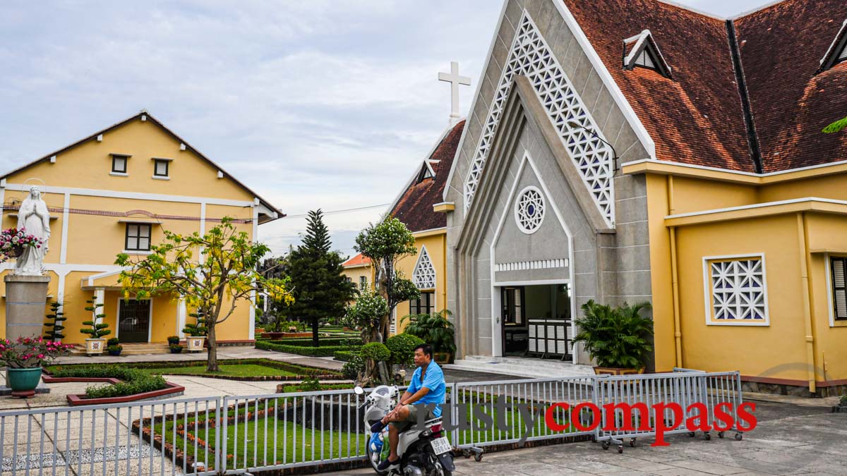
[[[547,196],[547,200],[550,202],[550,207],[553,210],[553,213],[556,214],[556,219],[559,220],[559,224],[562,225],[562,230],[565,231],[565,235],[567,235],[567,262],[573,263],[573,233],[571,230],[567,228],[567,224],[565,223],[565,219],[562,218],[562,213],[559,211],[559,208],[556,207],[556,202],[553,200],[553,196],[550,194],[550,189],[547,188],[547,185],[544,179],[541,177],[538,167],[535,166],[535,162],[533,158],[529,155],[529,152],[523,152],[523,159],[521,160],[521,164],[518,167],[518,173],[515,174],[515,180],[512,182],[512,186],[509,188],[509,196],[506,199],[506,204],[512,202],[512,199],[515,197],[515,193],[518,189],[518,182],[520,181],[521,174],[523,174],[523,168],[526,164],[529,163],[529,167],[533,170],[535,177],[538,179],[539,185],[541,185],[541,190],[544,191],[544,195]],[[503,355],[502,349],[502,339],[495,339],[494,336],[500,336],[502,333],[502,323],[501,323],[501,314],[500,314],[500,293],[497,288],[503,285],[545,285],[545,284],[556,284],[556,283],[573,283],[574,274],[573,274],[573,266],[568,267],[568,279],[567,280],[537,280],[537,281],[509,281],[504,283],[499,283],[496,280],[495,274],[495,244],[497,243],[497,239],[500,237],[500,234],[503,230],[503,226],[506,224],[506,218],[509,213],[505,210],[501,214],[500,222],[497,224],[497,230],[495,231],[494,238],[491,240],[490,245],[490,283],[491,283],[491,354],[495,357],[501,357]],[[512,284],[514,283],[514,284]],[[576,335],[576,317],[577,317],[577,305],[576,299],[573,299],[573,296],[576,296],[576,292],[571,289],[572,293],[571,299],[571,331],[573,335]],[[573,363],[579,363],[579,351],[574,347],[573,350]]]

